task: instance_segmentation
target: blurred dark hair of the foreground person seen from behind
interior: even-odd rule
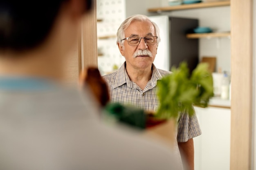
[[[23,51],[41,44],[68,0],[1,0],[0,51]],[[87,10],[91,0],[86,0]]]

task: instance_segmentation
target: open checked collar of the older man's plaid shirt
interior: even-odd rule
[[[151,87],[155,87],[157,85],[157,80],[162,79],[162,75],[159,73],[154,64],[152,64],[152,77],[149,80],[151,82]],[[126,62],[122,64],[122,66],[118,69],[115,83],[113,88],[117,88],[122,86],[123,84],[127,84],[128,87],[132,87],[133,84],[126,72]]]

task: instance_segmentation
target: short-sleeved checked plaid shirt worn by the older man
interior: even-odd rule
[[[156,86],[157,80],[170,74],[171,72],[169,71],[157,69],[153,64],[152,77],[144,90],[130,80],[126,72],[126,63],[118,71],[105,75],[103,78],[108,84],[111,102],[131,104],[146,111],[156,111],[159,106],[159,99],[157,97],[158,89]],[[189,116],[187,113],[181,113],[178,121],[179,123],[174,134],[174,152],[180,159],[177,142],[186,142],[193,137],[201,135],[202,132],[195,114]]]

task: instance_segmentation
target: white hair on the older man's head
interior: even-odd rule
[[[157,45],[159,44],[159,42],[161,41],[160,36],[159,36],[159,27],[157,26],[157,24],[155,22],[152,22],[150,20],[150,18],[148,18],[146,15],[132,15],[128,18],[126,18],[126,20],[124,20],[124,22],[119,26],[119,29],[117,30],[117,44],[120,43],[121,46],[124,46],[124,41],[123,40],[125,37],[124,31],[128,28],[128,26],[130,25],[130,23],[132,21],[150,21],[155,29],[155,35],[158,37],[157,38]]]

